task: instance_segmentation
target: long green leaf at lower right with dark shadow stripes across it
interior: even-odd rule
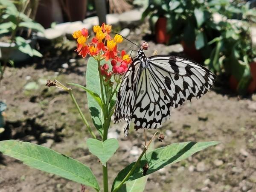
[[[186,159],[187,157],[191,156],[192,154],[201,151],[209,146],[217,145],[219,142],[217,141],[211,141],[211,142],[184,142],[184,143],[174,143],[171,145],[167,145],[166,147],[157,148],[151,152],[149,152],[145,158],[143,156],[140,160],[140,166],[138,166],[133,174],[129,177],[128,180],[135,180],[140,177],[143,177],[143,166],[148,161],[149,169],[146,173],[146,175],[149,175],[153,172],[156,172],[159,169],[162,169],[163,167],[172,164],[177,163],[181,160]],[[127,173],[131,170],[132,166],[135,164],[131,163],[125,169],[122,169],[116,176],[112,189],[114,189],[121,181],[124,179],[124,177],[127,175]]]

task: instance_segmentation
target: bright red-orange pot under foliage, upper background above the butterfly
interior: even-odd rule
[[[156,41],[160,44],[168,43],[171,35],[166,32],[166,17],[159,17],[155,26]]]

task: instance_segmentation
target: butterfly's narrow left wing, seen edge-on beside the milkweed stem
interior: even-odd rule
[[[114,122],[128,121],[134,108],[137,83],[140,79],[140,60],[135,59],[128,68],[120,85],[114,113]]]

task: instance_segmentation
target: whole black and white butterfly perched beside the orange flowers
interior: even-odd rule
[[[200,98],[215,78],[189,59],[171,55],[147,58],[140,48],[119,88],[114,121],[125,119],[125,137],[131,121],[137,128],[158,128],[170,118],[171,108]]]

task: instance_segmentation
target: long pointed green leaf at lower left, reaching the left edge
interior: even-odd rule
[[[47,147],[16,140],[0,141],[0,151],[24,164],[53,173],[99,191],[99,184],[89,167]]]

